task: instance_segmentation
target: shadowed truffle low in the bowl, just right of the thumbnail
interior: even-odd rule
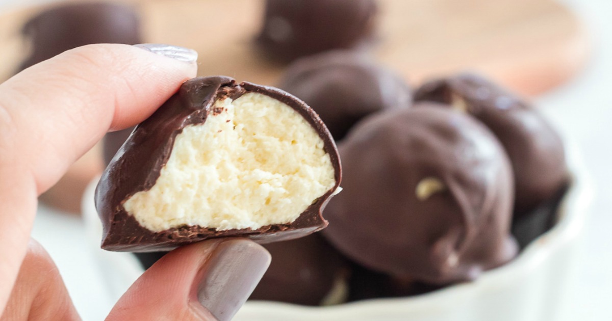
[[[318,234],[264,247],[272,263],[249,300],[316,306],[348,278],[346,261]]]

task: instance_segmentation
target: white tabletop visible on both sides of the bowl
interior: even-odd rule
[[[43,2],[0,0],[0,6]],[[577,142],[596,194],[589,211],[575,300],[567,320],[612,320],[612,0],[565,0],[591,28],[594,53],[584,72],[537,98],[543,112]],[[1,10],[1,7],[0,7]],[[84,320],[103,320],[113,298],[78,216],[41,205],[32,236],[51,254]],[[545,321],[545,320],[543,320]]]

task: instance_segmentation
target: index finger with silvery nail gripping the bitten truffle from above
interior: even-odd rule
[[[182,59],[129,45],[89,45],[0,84],[0,307],[26,253],[37,195],[106,131],[146,119],[195,76],[195,52],[149,51],[155,48],[166,56],[182,52]]]

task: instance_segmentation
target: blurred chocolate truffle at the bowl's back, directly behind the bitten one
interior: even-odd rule
[[[412,104],[403,79],[354,51],[299,59],[289,66],[278,87],[315,109],[336,141],[371,113]]]

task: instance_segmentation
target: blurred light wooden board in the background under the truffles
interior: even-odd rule
[[[125,1],[127,2],[127,1]],[[261,0],[134,0],[147,42],[200,53],[200,75],[275,84],[284,66],[261,59],[252,39]],[[476,70],[534,95],[580,71],[589,37],[578,18],[551,0],[380,0],[375,56],[413,84],[436,75]],[[0,16],[0,79],[27,52],[21,25],[43,7]]]

